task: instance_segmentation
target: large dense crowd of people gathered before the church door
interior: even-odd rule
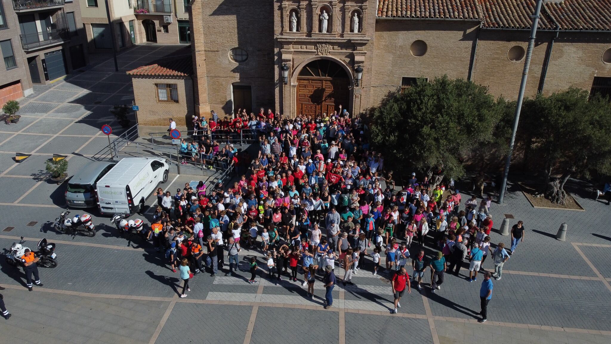
[[[494,274],[485,272],[484,278],[489,300],[490,278],[501,279],[503,264],[524,239],[523,223],[518,222],[511,230],[511,250],[502,242],[491,244],[490,195],[463,200],[453,182],[433,185],[416,173],[399,187],[384,166],[384,155],[368,143],[367,125],[341,107],[339,112],[294,119],[263,108],[257,115],[241,111],[232,120],[219,120],[213,112],[208,121],[194,118],[193,124],[189,145],[203,142],[206,155],[235,159],[241,170],[237,181],[212,190],[199,182],[195,188],[185,184],[174,195],[157,192],[148,235],[166,252],[170,269],[180,270],[181,297],[189,291],[190,277],[206,269],[213,276],[219,270],[235,274],[238,253],[247,249],[263,258],[259,263],[252,256],[246,262],[249,283],[257,283],[264,271],[274,283],[301,280],[313,297],[319,275],[326,287],[326,308],[332,306],[331,291],[338,282],[335,267],[343,269],[343,285],[352,285],[353,276],[365,271],[388,274],[395,298],[392,312],[412,284],[422,290],[423,280],[430,282],[434,293],[446,272],[458,275],[465,259],[466,279],[477,281],[481,265],[492,255]],[[258,140],[255,156],[229,143],[218,149],[243,129]],[[426,250],[432,258],[426,258]]]

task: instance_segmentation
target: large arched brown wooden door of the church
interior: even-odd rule
[[[318,59],[305,65],[297,78],[297,113],[330,114],[349,108],[350,81],[346,70],[334,61]]]

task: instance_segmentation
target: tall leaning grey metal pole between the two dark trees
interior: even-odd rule
[[[511,164],[511,154],[513,154],[513,144],[516,140],[516,131],[518,130],[518,122],[520,120],[520,111],[522,110],[522,100],[524,99],[524,91],[526,89],[526,80],[529,78],[530,57],[535,47],[536,27],[539,24],[539,15],[541,13],[543,0],[536,2],[535,13],[530,16],[532,18],[532,29],[530,30],[529,47],[526,50],[526,59],[524,61],[524,71],[522,72],[522,82],[520,83],[520,92],[518,94],[518,104],[516,105],[516,114],[513,117],[513,129],[511,129],[511,140],[509,141],[509,152],[507,160],[505,160],[505,170],[503,171],[503,182],[500,185],[499,204],[503,204],[505,197],[505,189],[507,189],[507,176],[509,174],[509,165]]]

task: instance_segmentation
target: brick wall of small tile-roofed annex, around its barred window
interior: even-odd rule
[[[134,100],[141,106],[138,111],[139,125],[168,125],[168,119],[173,118],[176,124],[184,127],[194,114],[193,83],[191,78],[132,78]],[[155,84],[177,84],[178,103],[158,102]]]

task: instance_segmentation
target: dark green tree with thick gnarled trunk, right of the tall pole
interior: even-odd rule
[[[571,88],[525,99],[519,133],[525,163],[544,171],[546,197],[564,203],[569,176],[611,174],[611,103],[588,91]],[[552,174],[562,177],[550,182]]]

